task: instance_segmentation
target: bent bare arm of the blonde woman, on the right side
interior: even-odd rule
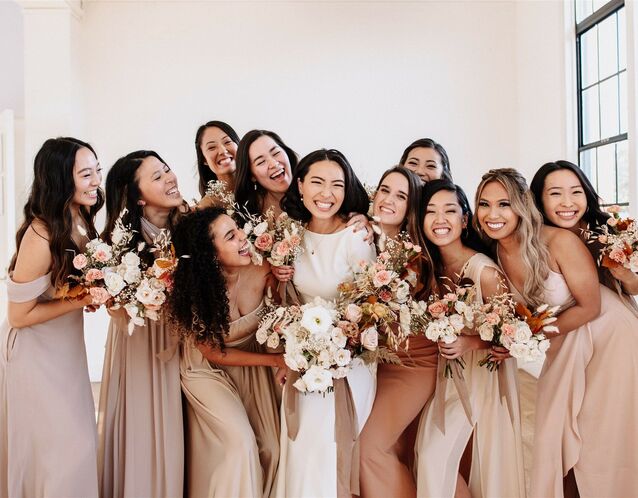
[[[568,230],[556,229],[553,232],[548,244],[549,252],[576,301],[553,323],[559,330],[556,335],[560,335],[577,329],[600,314],[600,284],[594,260],[580,238]]]

